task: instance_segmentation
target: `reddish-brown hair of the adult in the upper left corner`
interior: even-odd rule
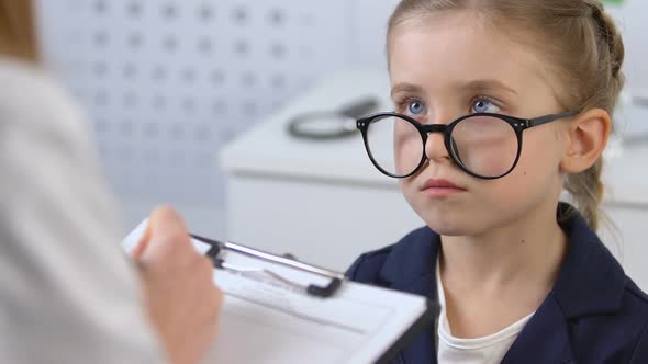
[[[0,55],[38,61],[31,0],[0,0]]]

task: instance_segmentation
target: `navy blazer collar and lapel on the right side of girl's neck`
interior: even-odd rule
[[[576,363],[569,322],[621,309],[626,275],[571,206],[558,206],[569,236],[567,254],[551,293],[522,330],[502,363]]]

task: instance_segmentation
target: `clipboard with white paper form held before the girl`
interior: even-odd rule
[[[146,225],[124,239],[126,251]],[[439,311],[422,296],[250,247],[191,238],[214,262],[214,283],[225,297],[217,338],[202,363],[390,363]]]

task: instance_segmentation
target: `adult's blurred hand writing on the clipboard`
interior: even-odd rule
[[[223,294],[213,265],[191,244],[180,215],[155,209],[132,253],[139,264],[145,307],[174,364],[198,362],[212,343]]]

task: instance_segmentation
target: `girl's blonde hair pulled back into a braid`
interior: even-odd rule
[[[461,9],[478,11],[494,25],[517,25],[517,29],[528,30],[524,35],[530,35],[536,41],[543,57],[552,65],[557,79],[562,81],[555,90],[566,110],[600,107],[612,115],[624,84],[621,67],[625,50],[614,21],[605,13],[601,2],[402,0],[390,18],[388,39],[393,30],[406,21],[421,21],[432,13]],[[569,174],[565,181],[565,189],[571,193],[579,211],[594,230],[599,227],[599,206],[604,190],[602,168],[603,160],[600,158],[588,170]]]

